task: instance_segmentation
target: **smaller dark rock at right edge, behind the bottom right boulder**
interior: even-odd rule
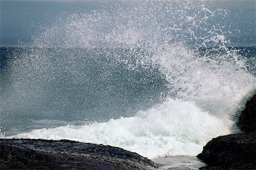
[[[245,109],[238,115],[237,126],[244,132],[256,131],[256,93],[247,100]]]

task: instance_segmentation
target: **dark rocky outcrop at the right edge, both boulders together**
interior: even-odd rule
[[[200,169],[256,169],[256,93],[237,115],[243,133],[212,139],[197,158],[208,166]]]

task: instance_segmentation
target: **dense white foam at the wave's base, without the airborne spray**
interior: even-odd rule
[[[230,125],[230,121],[201,111],[191,101],[167,99],[134,117],[84,126],[37,129],[13,137],[103,143],[158,158],[196,155],[212,137],[230,133]]]

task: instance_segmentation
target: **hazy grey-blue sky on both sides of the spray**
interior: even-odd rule
[[[110,2],[109,3],[113,3]],[[30,41],[40,26],[54,22],[72,12],[90,12],[100,8],[100,1],[1,1],[0,0],[0,46],[16,46],[18,41]],[[240,30],[230,40],[240,46],[256,46],[255,39],[256,0],[226,0],[209,3],[209,8],[227,8],[225,18],[230,29]]]

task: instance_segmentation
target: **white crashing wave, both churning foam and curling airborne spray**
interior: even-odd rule
[[[131,117],[35,129],[8,138],[102,143],[148,158],[160,158],[197,155],[210,139],[236,132],[232,116],[243,97],[255,86],[255,77],[247,72],[244,58],[226,48],[229,41],[225,32],[217,26],[209,28],[207,20],[217,15],[217,11],[214,13],[204,7],[204,3],[197,2],[200,5],[193,4],[195,11],[191,14],[192,2],[175,2],[165,2],[162,6],[151,2],[145,7],[151,11],[138,7],[136,3],[140,2],[134,2],[137,8],[127,2],[130,12],[120,8],[113,14],[106,11],[101,15],[97,12],[74,14],[46,27],[33,44],[146,49],[152,55],[140,58],[134,54],[136,65],[129,65],[127,69],[154,65],[169,82],[170,94],[175,95]],[[214,48],[200,56],[198,51],[203,46]],[[217,50],[223,53],[214,53]],[[127,62],[121,57],[117,60]]]

